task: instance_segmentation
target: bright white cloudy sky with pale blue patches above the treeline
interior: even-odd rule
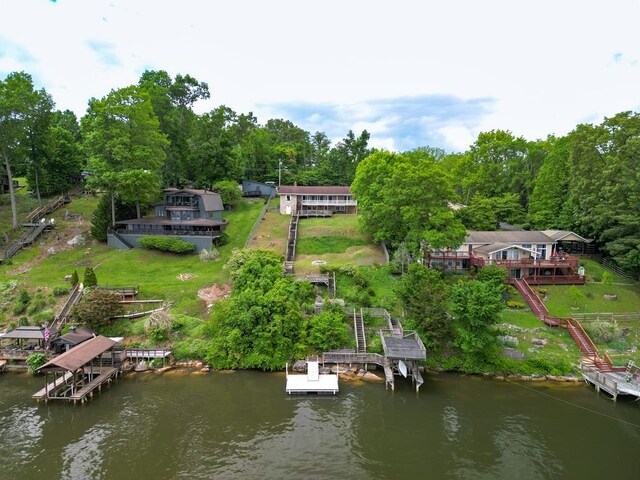
[[[640,0],[0,0],[0,79],[82,116],[165,70],[208,83],[198,113],[464,151],[640,111],[639,20]]]

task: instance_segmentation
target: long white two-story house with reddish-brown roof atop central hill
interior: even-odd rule
[[[282,185],[280,213],[299,216],[331,216],[334,213],[358,213],[358,201],[348,186]]]

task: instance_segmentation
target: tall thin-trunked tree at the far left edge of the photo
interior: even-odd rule
[[[26,159],[27,134],[38,94],[31,76],[24,72],[10,73],[0,81],[0,154],[9,180],[12,226],[18,229],[18,209],[13,188],[12,167]]]

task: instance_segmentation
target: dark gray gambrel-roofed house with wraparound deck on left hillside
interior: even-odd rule
[[[170,235],[196,245],[196,251],[211,249],[227,226],[222,217],[220,194],[212,190],[168,188],[164,202],[154,207],[155,216],[121,220],[107,234],[110,247],[126,250],[140,246],[149,235]]]

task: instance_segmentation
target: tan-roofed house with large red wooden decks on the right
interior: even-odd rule
[[[428,251],[424,262],[446,270],[469,270],[486,265],[507,269],[509,278],[525,278],[530,284],[583,284],[577,257],[566,253],[563,242],[590,243],[563,230],[468,231],[457,249]]]

